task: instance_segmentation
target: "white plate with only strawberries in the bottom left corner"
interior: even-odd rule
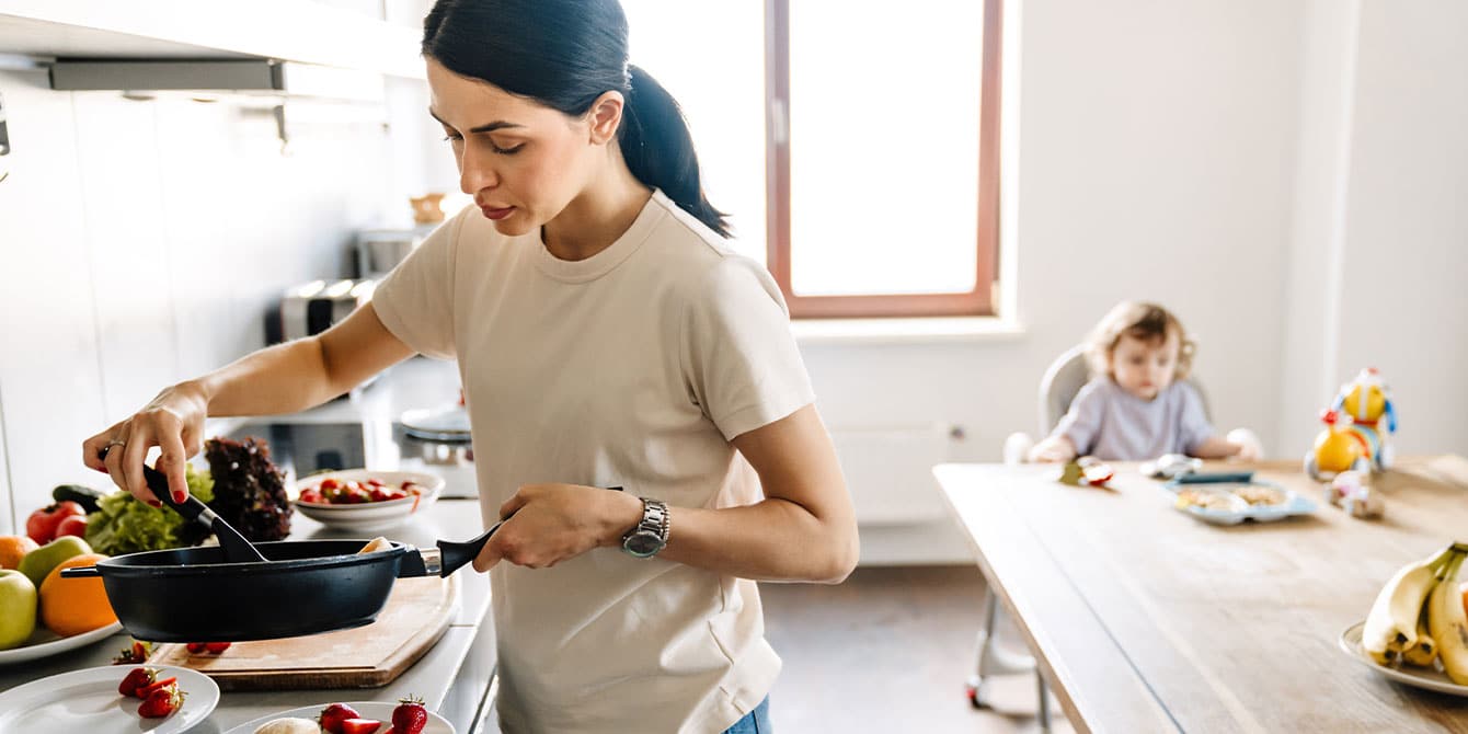
[[[178,675],[184,706],[166,719],[138,716],[142,702],[117,693],[137,665],[84,668],[16,686],[0,693],[0,731],[26,734],[175,734],[208,718],[219,703],[219,686],[208,675],[172,665],[148,665]]]

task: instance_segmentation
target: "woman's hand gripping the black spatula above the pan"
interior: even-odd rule
[[[154,467],[169,479],[175,502],[188,499],[184,467],[198,454],[208,417],[208,398],[197,382],[182,382],[160,392],[132,417],[82,442],[82,462],[107,473],[113,483],[142,502],[161,506],[142,479],[148,449],[161,454]]]

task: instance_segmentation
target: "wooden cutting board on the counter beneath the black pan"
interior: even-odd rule
[[[366,627],[235,643],[219,655],[160,644],[148,662],[192,668],[214,678],[222,690],[376,688],[443,637],[458,595],[454,575],[398,578],[388,606]],[[289,614],[289,605],[282,605],[280,614]]]

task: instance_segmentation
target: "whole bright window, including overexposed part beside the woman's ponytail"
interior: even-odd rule
[[[994,313],[1001,0],[622,4],[791,316]]]

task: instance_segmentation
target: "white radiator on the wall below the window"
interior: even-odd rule
[[[945,423],[831,427],[856,520],[863,526],[912,526],[948,517],[932,479],[951,461],[956,432]]]

